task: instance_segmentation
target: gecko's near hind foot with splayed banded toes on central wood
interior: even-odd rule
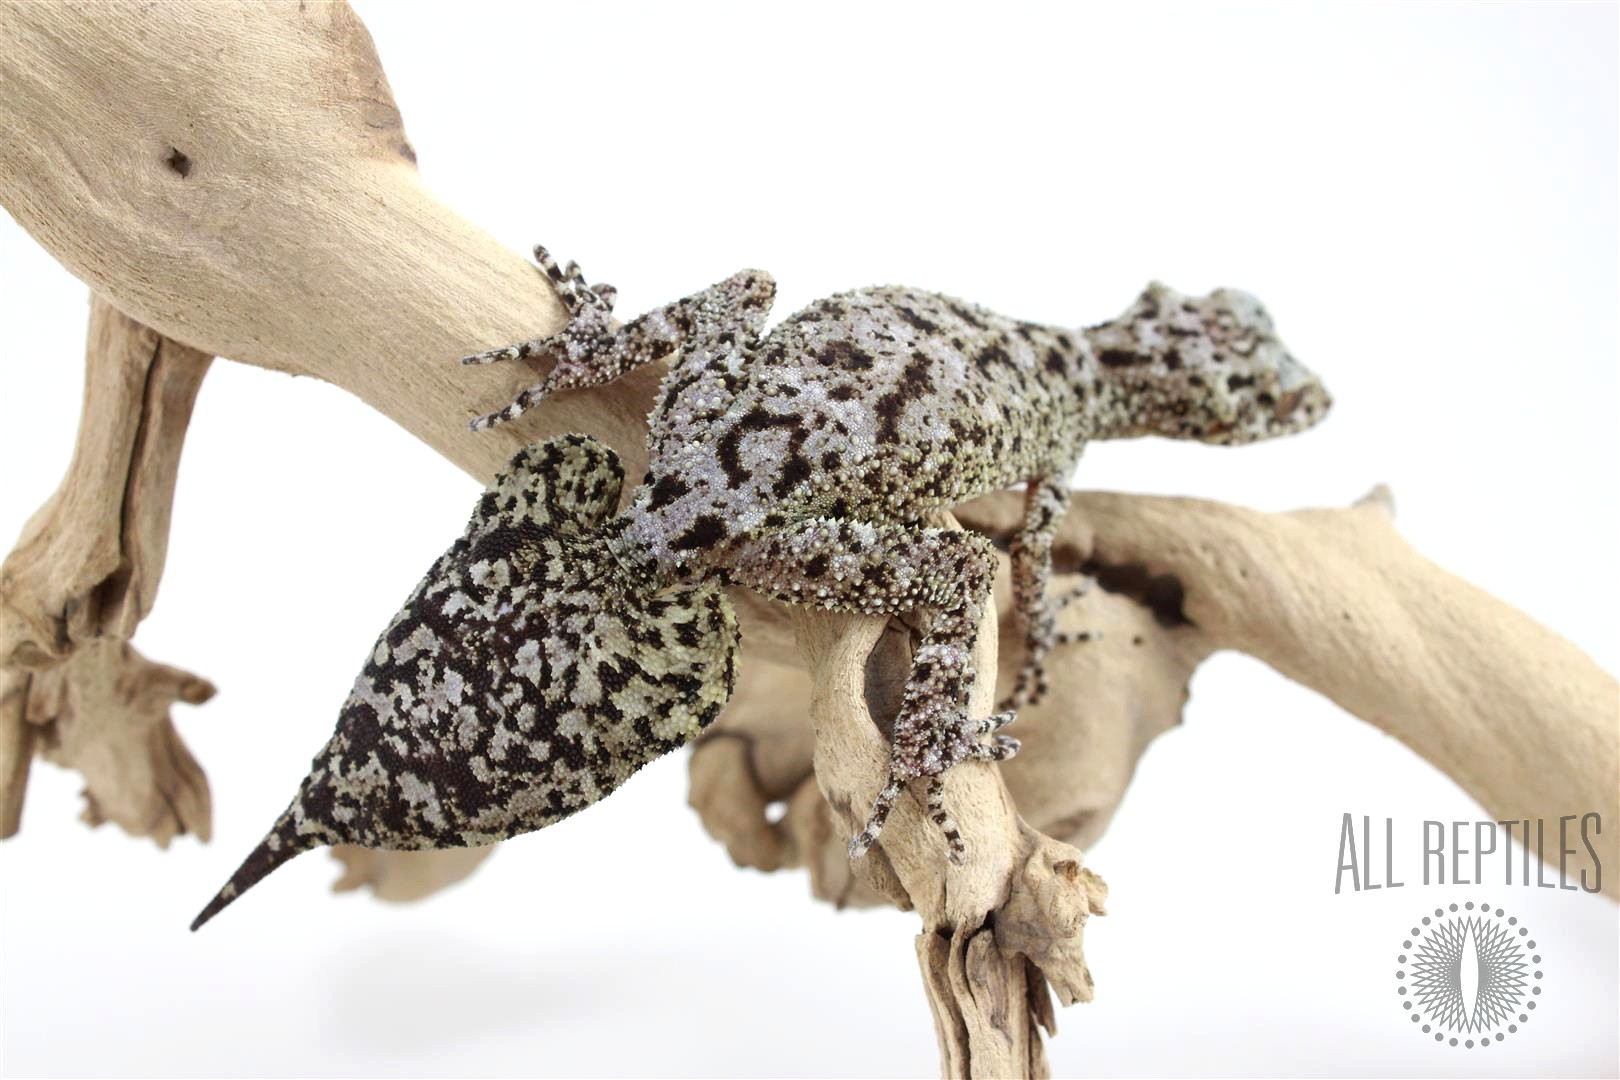
[[[849,840],[849,857],[865,855],[883,824],[894,810],[894,800],[912,780],[928,780],[927,813],[944,834],[946,855],[953,865],[967,857],[967,845],[956,821],[944,810],[944,774],[953,766],[975,758],[978,761],[1006,761],[1017,753],[1019,742],[1009,735],[996,735],[995,742],[978,742],[983,735],[998,732],[1014,721],[1014,712],[996,712],[980,721],[969,721],[959,709],[906,711],[894,721],[894,745],[889,751],[889,777],[872,803],[865,827]]]

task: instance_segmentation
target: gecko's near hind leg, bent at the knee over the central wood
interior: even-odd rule
[[[980,738],[1013,722],[1011,712],[970,721],[974,643],[995,578],[995,549],[948,529],[813,518],[739,542],[726,573],[768,596],[829,610],[894,615],[923,610],[928,625],[912,656],[889,748],[889,772],[865,827],[849,842],[860,858],[907,784],[928,779],[927,813],[961,863],[962,837],[944,810],[943,774],[969,758],[1004,761],[1017,740]]]

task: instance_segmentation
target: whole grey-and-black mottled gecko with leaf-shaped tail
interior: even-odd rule
[[[922,623],[886,782],[849,853],[922,782],[959,863],[943,777],[1011,758],[1019,743],[1001,729],[1047,690],[1045,659],[1068,640],[1064,601],[1047,597],[1051,546],[1085,444],[1246,444],[1304,431],[1332,405],[1238,290],[1192,298],[1155,282],[1123,316],[1069,330],[878,287],[766,334],[774,282],[761,270],[617,324],[612,287],[535,256],[569,322],[463,358],[551,361],[470,426],[667,361],[646,476],[620,512],[609,447],[575,434],[520,450],[382,631],[293,803],[193,929],[314,847],[491,844],[611,793],[726,704],[739,646],[726,589],[739,586]],[[1019,484],[1008,554],[1024,659],[998,711],[970,717],[996,549],[925,520]]]

